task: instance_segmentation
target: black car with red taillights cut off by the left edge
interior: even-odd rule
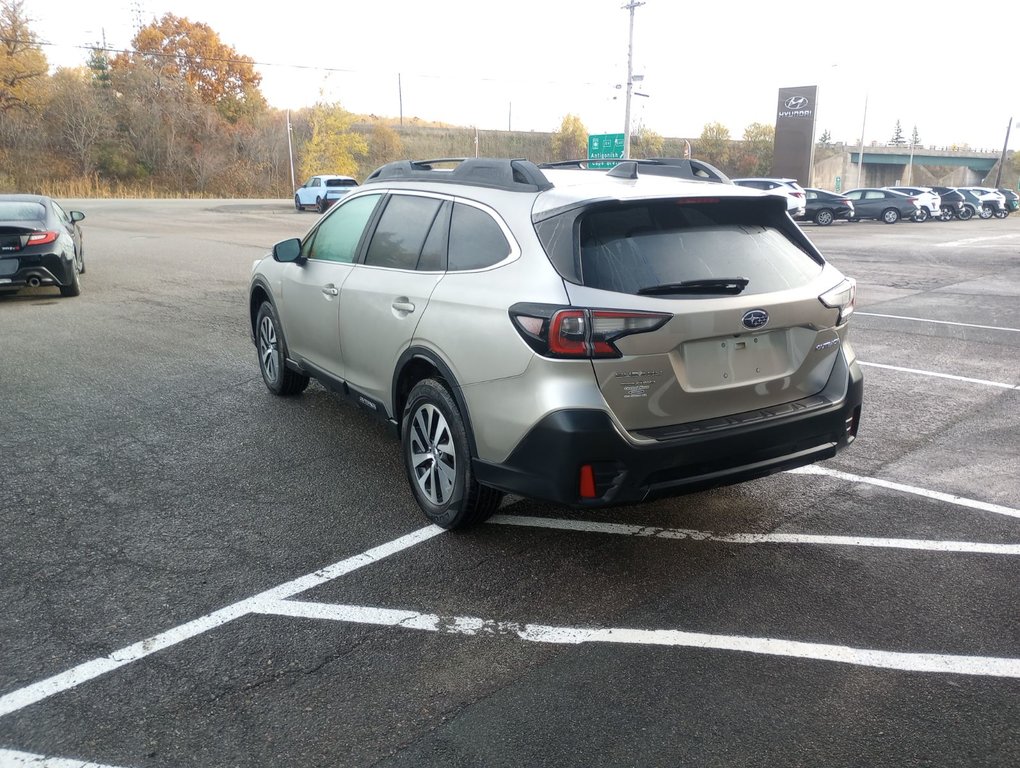
[[[55,286],[61,296],[79,296],[84,218],[44,195],[0,195],[0,293]]]

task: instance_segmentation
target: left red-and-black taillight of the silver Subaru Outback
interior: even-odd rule
[[[527,345],[543,357],[622,357],[616,342],[665,325],[667,312],[559,307],[550,304],[515,304],[510,319]]]

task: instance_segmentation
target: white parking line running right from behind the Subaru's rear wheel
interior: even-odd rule
[[[953,552],[969,555],[1006,555],[1020,557],[1020,544],[985,544],[982,542],[948,542],[925,539],[879,539],[873,536],[832,536],[811,533],[713,533],[686,528],[659,528],[648,525],[626,525],[593,520],[569,520],[525,515],[494,515],[489,522],[497,525],[519,525],[528,528],[576,530],[582,533],[609,533],[619,536],[691,540],[721,544],[783,544],[822,547],[873,547],[892,550]]]

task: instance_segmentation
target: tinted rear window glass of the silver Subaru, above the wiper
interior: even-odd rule
[[[749,295],[803,286],[822,270],[770,224],[770,211],[741,201],[613,203],[542,221],[537,231],[560,273],[583,286],[638,294],[740,277]]]

